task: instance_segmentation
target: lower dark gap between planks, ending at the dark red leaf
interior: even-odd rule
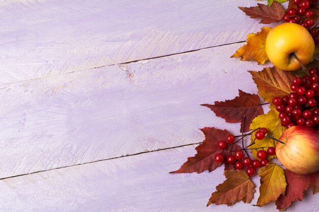
[[[146,154],[146,153],[159,152],[159,151],[162,151],[162,150],[173,149],[173,148],[180,148],[180,147],[184,147],[184,146],[197,145],[197,144],[201,144],[201,143],[202,143],[202,142],[189,143],[189,144],[184,144],[184,145],[179,145],[179,146],[173,146],[173,147],[167,147],[167,148],[159,148],[159,149],[150,150],[150,151],[147,151],[147,152],[129,154],[129,155],[125,155],[125,156],[119,156],[119,157],[108,158],[108,159],[102,159],[102,160],[91,161],[91,162],[86,162],[86,163],[74,164],[74,165],[71,165],[71,166],[63,166],[63,167],[58,167],[58,168],[54,168],[54,169],[46,169],[46,170],[35,171],[35,172],[31,172],[31,173],[26,173],[26,174],[18,174],[18,175],[9,176],[9,177],[3,177],[3,178],[0,178],[0,180],[9,179],[9,178],[15,178],[15,177],[20,177],[20,176],[25,176],[25,175],[30,175],[30,174],[36,174],[36,173],[41,173],[41,172],[46,172],[46,171],[52,171],[52,170],[56,170],[56,169],[64,169],[64,168],[68,168],[68,167],[81,166],[81,165],[90,164],[90,163],[96,163],[96,162],[101,162],[101,161],[109,161],[109,160],[113,160],[113,159],[129,157],[129,156],[142,155],[142,154]]]

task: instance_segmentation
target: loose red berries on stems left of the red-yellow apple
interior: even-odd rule
[[[263,129],[262,131],[264,132],[264,134],[267,134],[266,129],[264,128],[261,128],[261,129]],[[260,130],[258,132],[260,132]],[[228,135],[226,140],[229,144],[232,144],[235,141],[235,137],[233,135]],[[224,140],[221,140],[218,142],[217,145],[220,149],[225,149],[227,147],[227,142]],[[259,168],[260,165],[266,166],[269,163],[269,161],[267,160],[267,154],[275,155],[275,151],[276,151],[274,147],[269,147],[267,149],[267,152],[265,152],[265,150],[259,150],[257,152],[257,157],[260,159],[259,161],[259,160],[252,160],[249,157],[244,157],[245,154],[243,150],[244,149],[236,150],[234,151],[234,154],[232,154],[230,151],[229,153],[231,154],[228,154],[228,156],[226,157],[226,162],[228,164],[234,164],[234,168],[237,170],[242,170],[246,167],[246,173],[249,176],[252,176],[255,173],[255,169]],[[224,153],[218,153],[215,155],[215,161],[217,163],[222,163],[224,162],[224,160],[225,160]]]

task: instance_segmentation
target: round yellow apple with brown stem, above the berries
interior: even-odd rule
[[[274,66],[285,71],[295,71],[310,63],[314,41],[307,29],[297,23],[282,23],[271,29],[265,50]]]

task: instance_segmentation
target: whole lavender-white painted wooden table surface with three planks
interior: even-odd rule
[[[169,174],[199,128],[239,132],[200,104],[257,93],[247,70],[271,64],[230,58],[264,26],[237,8],[256,4],[0,1],[0,211],[276,211],[258,191],[206,207],[222,167]]]

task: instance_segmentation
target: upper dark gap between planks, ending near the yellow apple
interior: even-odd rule
[[[82,72],[82,71],[90,71],[90,70],[94,70],[94,69],[99,69],[99,68],[109,67],[109,66],[115,66],[115,65],[124,65],[124,64],[127,65],[127,64],[130,64],[130,63],[136,63],[136,62],[139,62],[139,61],[142,61],[142,60],[147,60],[147,59],[162,58],[162,57],[167,57],[167,56],[172,56],[172,55],[196,52],[196,51],[200,51],[200,50],[203,50],[203,49],[210,49],[210,48],[215,48],[215,47],[220,47],[220,46],[227,46],[227,45],[232,45],[232,44],[236,44],[236,43],[244,43],[244,42],[246,42],[246,40],[245,41],[238,41],[238,42],[233,42],[233,43],[222,44],[222,45],[216,45],[216,46],[209,46],[209,47],[199,48],[199,49],[190,50],[190,51],[183,51],[183,52],[179,52],[179,53],[166,54],[166,55],[155,56],[155,57],[148,57],[148,58],[143,58],[143,59],[138,59],[138,60],[131,60],[131,61],[128,61],[128,62],[125,62],[125,63],[115,63],[115,64],[110,64],[110,65],[105,65],[105,66],[94,67],[94,68],[91,68],[91,69],[83,69],[83,70],[78,70],[78,71],[72,71],[72,72],[67,72],[67,73],[50,75],[50,76],[47,76],[47,77],[25,79],[25,80],[20,80],[20,81],[15,81],[15,82],[10,82],[10,83],[4,84],[3,87],[5,87],[5,85],[10,85],[10,84],[15,84],[15,83],[19,83],[19,82],[25,82],[25,81],[31,81],[31,80],[35,80],[35,79],[45,79],[45,78],[49,78],[49,77],[55,77],[55,76],[60,76],[60,75],[70,74],[70,73],[77,73],[77,72]],[[3,89],[3,87],[0,88],[0,89]],[[0,178],[0,179],[2,179],[2,178]]]

